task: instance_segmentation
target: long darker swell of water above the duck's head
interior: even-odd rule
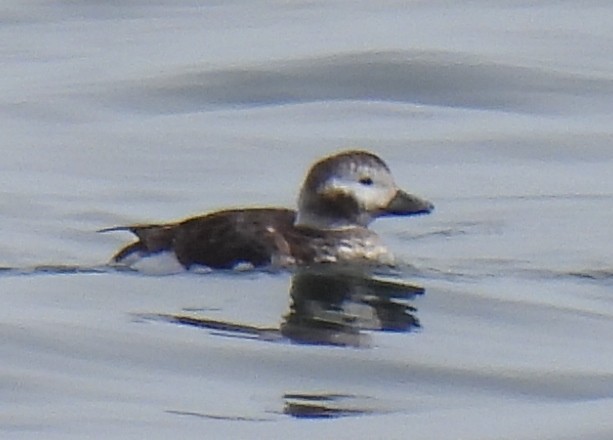
[[[378,100],[474,109],[559,111],[581,96],[613,95],[613,81],[505,65],[446,52],[391,51],[272,61],[131,84],[114,101],[139,111]],[[562,106],[560,105],[562,104]],[[587,104],[586,104],[587,108]]]

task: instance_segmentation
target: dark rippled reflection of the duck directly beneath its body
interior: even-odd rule
[[[409,332],[420,327],[410,301],[419,286],[356,268],[300,268],[292,276],[290,307],[279,328],[249,326],[193,315],[140,315],[219,332],[225,336],[299,344],[370,345],[368,331]]]

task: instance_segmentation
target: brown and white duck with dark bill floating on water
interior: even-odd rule
[[[103,229],[130,231],[138,241],[113,256],[117,264],[174,253],[185,268],[288,267],[367,261],[393,256],[368,225],[378,217],[427,214],[433,205],[398,188],[389,168],[366,151],[346,151],[315,163],[300,190],[298,210],[230,209],[176,223]],[[136,257],[136,258],[135,258]]]

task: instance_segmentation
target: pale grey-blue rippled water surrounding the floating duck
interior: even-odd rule
[[[612,18],[4,2],[2,438],[610,438]],[[418,329],[293,343],[288,273],[105,266],[100,228],[292,206],[353,146],[436,205],[374,225]]]

